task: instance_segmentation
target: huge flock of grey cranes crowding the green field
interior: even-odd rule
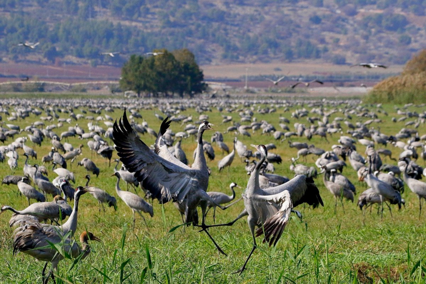
[[[5,107],[6,105],[9,107]],[[87,113],[88,105],[90,105],[89,111],[98,114],[97,117]],[[121,117],[117,114],[108,114],[114,109],[122,109],[126,106],[128,108],[125,108]],[[146,121],[142,121],[143,110],[152,109],[153,106],[165,116],[164,118],[155,113],[155,117],[162,121],[158,132],[150,128]],[[92,233],[84,231],[80,236],[82,247],[73,241],[73,235],[78,227],[79,201],[87,192],[97,200],[99,212],[106,211],[104,205],[113,207],[114,210],[125,210],[117,206],[117,199],[121,199],[128,207],[126,210],[131,210],[133,213],[133,227],[136,222],[136,213],[148,227],[145,216],[153,217],[153,200],[158,200],[162,204],[174,203],[182,216],[182,222],[187,226],[199,227],[200,232],[204,232],[218,251],[224,255],[226,255],[225,251],[212,237],[210,231],[215,230],[213,228],[216,227],[232,226],[239,219],[247,216],[253,247],[246,261],[236,271],[242,273],[258,247],[257,237],[263,236],[263,242],[275,246],[289,222],[290,214],[294,212],[297,216],[302,216],[299,211],[294,210],[295,207],[301,204],[307,204],[313,209],[319,205],[324,206],[321,195],[324,196],[327,193],[321,192],[320,195],[318,185],[324,185],[335,198],[336,214],[339,201],[343,212],[344,199],[356,201],[357,189],[344,175],[350,168],[358,176],[359,182],[365,182],[368,186],[367,190],[358,193],[357,205],[364,210],[364,213],[366,208],[371,208],[373,204],[380,205],[381,218],[383,218],[384,206],[389,209],[390,214],[392,214],[391,205],[398,205],[400,209],[401,205],[405,205],[401,193],[406,186],[418,197],[420,217],[422,199],[426,199],[426,183],[420,179],[426,171],[423,171],[416,160],[426,161],[424,145],[426,135],[420,136],[421,133],[419,133],[420,125],[426,119],[426,112],[411,111],[410,106],[397,109],[397,114],[400,118],[414,119],[415,123],[407,121],[406,126],[399,131],[384,134],[380,131],[382,120],[378,118],[377,113],[386,115],[387,113],[381,105],[363,106],[358,101],[229,100],[225,102],[220,99],[210,99],[205,101],[147,100],[129,103],[118,99],[91,100],[90,102],[78,99],[64,101],[13,99],[0,109],[0,112],[8,116],[9,121],[20,120],[25,123],[30,115],[38,117],[39,121],[25,127],[2,122],[0,137],[4,136],[2,141],[5,145],[0,146],[0,161],[8,159],[11,171],[15,172],[18,169],[18,161],[22,163],[20,155],[25,157],[23,175],[5,175],[3,184],[9,187],[16,185],[17,191],[27,198],[29,206],[19,210],[3,205],[0,214],[6,211],[14,213],[9,221],[10,226],[15,227],[13,252],[21,251],[46,261],[42,273],[44,283],[49,281],[49,277],[55,278],[58,263],[63,258],[53,248],[48,247],[47,243],[64,241],[65,250],[69,251],[72,257],[84,258],[90,252],[91,242],[89,241],[99,240]],[[290,111],[291,107],[292,111]],[[221,133],[215,130],[216,126],[208,122],[207,113],[212,108],[224,113],[222,123],[229,124],[226,132]],[[183,115],[182,110],[191,110],[193,113],[191,116]],[[279,110],[282,113],[280,115],[276,113]],[[77,111],[82,113],[76,114]],[[197,121],[192,121],[195,112],[199,113],[199,117]],[[280,123],[274,125],[268,122],[265,114],[276,116]],[[287,114],[287,117],[283,114]],[[114,123],[112,123],[113,117],[117,117]],[[240,121],[237,121],[236,117],[239,117]],[[294,131],[288,125],[290,117],[296,121]],[[80,123],[82,119],[88,121],[87,127]],[[174,128],[172,123],[180,124],[183,131],[174,133],[171,130]],[[104,129],[102,124],[105,124],[107,129]],[[55,128],[66,125],[68,125],[67,131],[59,135],[54,132]],[[176,125],[174,129],[178,127]],[[280,127],[282,131],[277,130],[276,127]],[[346,128],[345,134],[344,128]],[[208,131],[214,133],[211,135],[211,143],[203,139],[204,133]],[[270,143],[251,145],[254,148],[252,151],[243,143],[242,137],[255,140],[252,134],[258,132],[265,134]],[[154,145],[145,144],[139,138],[139,134],[155,137]],[[339,134],[340,136],[336,137]],[[231,148],[224,143],[224,135],[232,137]],[[310,140],[314,136],[318,136],[319,139],[332,139],[336,144],[330,145],[329,149],[310,145]],[[79,137],[81,141],[87,140],[86,144],[91,154],[80,158],[79,156],[84,154],[82,149],[85,146],[83,143],[78,147],[77,144],[68,143],[70,137]],[[185,143],[193,143],[188,137],[195,139],[194,160],[190,166],[188,156],[181,148],[183,139],[189,141]],[[295,138],[301,141],[292,140]],[[273,144],[274,140],[279,144]],[[28,146],[29,141],[34,147],[51,145],[52,147],[49,146],[51,151],[38,160],[41,155],[37,155],[36,151]],[[224,156],[218,159],[219,173],[215,175],[230,175],[229,169],[238,163],[236,162],[238,158],[241,162],[245,161],[245,169],[250,177],[241,196],[235,192],[235,188],[240,188],[235,182],[230,185],[232,195],[207,191],[209,176],[212,174],[211,169],[207,167],[207,159],[216,159],[212,145],[216,145]],[[393,147],[392,150],[383,149],[388,145],[392,145],[389,146]],[[361,147],[365,148],[365,156],[361,152]],[[291,162],[283,160],[274,153],[275,149],[280,148],[297,149],[297,157],[290,159]],[[232,149],[231,152],[230,149]],[[420,153],[417,154],[417,151]],[[225,152],[228,155],[225,156]],[[93,155],[99,155],[109,162],[108,173],[103,173],[104,168],[98,167],[89,159],[89,156],[93,159]],[[118,156],[119,160],[113,160],[117,164],[112,168],[110,162],[115,156]],[[394,159],[392,156],[399,156],[399,159]],[[315,166],[306,164],[307,157],[317,157]],[[305,164],[298,163],[301,158]],[[390,164],[383,164],[384,159],[387,159]],[[85,187],[73,185],[76,181],[76,175],[72,172],[75,160],[78,160],[77,165],[82,166],[87,172],[81,177],[87,180]],[[118,168],[120,162],[122,166]],[[274,165],[282,163],[294,172],[293,178],[289,179],[275,172]],[[53,166],[52,169],[50,165]],[[228,173],[221,173],[227,167]],[[57,175],[52,181],[47,177],[50,171]],[[98,179],[91,179],[91,175],[115,176],[115,194],[96,186]],[[319,178],[320,175],[322,175],[321,178]],[[120,188],[121,180],[126,183],[127,190]],[[31,204],[32,201],[34,203]],[[240,201],[244,203],[244,210],[233,221],[216,224],[218,207],[220,210],[226,210]],[[4,203],[4,201],[1,202]],[[73,202],[72,207],[69,202]],[[214,224],[209,225],[206,216],[211,208],[214,211]],[[65,220],[67,217],[68,220],[65,223],[58,224],[60,220]],[[52,265],[46,275],[48,262]]]

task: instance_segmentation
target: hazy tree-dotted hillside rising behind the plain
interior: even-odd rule
[[[121,65],[189,48],[200,64],[403,64],[426,47],[426,0],[0,0],[4,62]],[[35,49],[20,42],[40,42]],[[115,57],[101,52],[119,51]]]

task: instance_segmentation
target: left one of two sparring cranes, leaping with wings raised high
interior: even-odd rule
[[[134,172],[134,176],[141,182],[153,198],[157,198],[163,203],[172,198],[181,203],[186,200],[185,222],[190,224],[192,215],[198,206],[202,211],[201,228],[207,236],[214,242],[221,253],[225,252],[219,247],[216,241],[205,229],[205,211],[207,202],[213,200],[205,192],[208,186],[208,169],[203,154],[202,134],[205,130],[212,130],[212,124],[203,121],[198,127],[197,148],[195,161],[189,168],[170,154],[167,146],[162,140],[162,135],[170,125],[168,117],[163,120],[155,141],[155,153],[153,153],[142,140],[138,138],[135,130],[132,129],[127,120],[126,111],[119,123],[114,123],[114,143],[121,162]],[[221,209],[225,207],[217,204]],[[197,225],[199,226],[199,225]]]

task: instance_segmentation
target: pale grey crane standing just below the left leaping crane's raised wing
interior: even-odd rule
[[[148,226],[148,224],[146,224],[145,217],[143,217],[142,213],[140,212],[142,211],[144,213],[148,213],[151,217],[153,217],[154,211],[152,209],[152,206],[149,203],[147,203],[145,200],[137,196],[136,194],[131,193],[129,191],[122,191],[120,189],[121,177],[118,172],[115,172],[113,175],[111,175],[111,177],[112,176],[117,177],[117,182],[115,184],[115,191],[117,192],[117,195],[133,211],[133,228],[135,227],[135,222],[136,222],[136,216],[135,216],[136,212],[140,215],[140,217],[142,217],[143,221],[145,222],[145,225]]]

